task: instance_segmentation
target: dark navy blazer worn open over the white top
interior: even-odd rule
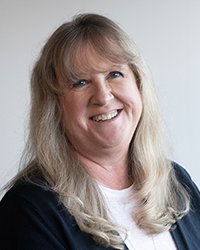
[[[200,193],[188,173],[177,164],[174,167],[190,193],[191,209],[170,233],[178,250],[199,250]],[[27,182],[11,188],[0,203],[0,249],[113,250],[82,232],[54,192]]]

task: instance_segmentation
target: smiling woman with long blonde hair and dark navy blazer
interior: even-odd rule
[[[168,160],[151,78],[118,25],[83,14],[60,26],[31,91],[1,249],[198,249],[199,191]]]

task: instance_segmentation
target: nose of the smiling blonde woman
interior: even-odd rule
[[[90,99],[93,105],[106,105],[113,98],[112,89],[105,79],[98,79],[93,82],[93,92]]]

